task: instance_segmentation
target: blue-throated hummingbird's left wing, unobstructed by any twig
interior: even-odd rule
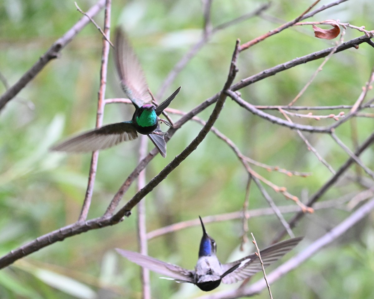
[[[150,269],[151,271],[167,275],[179,282],[194,283],[194,271],[181,268],[171,263],[165,263],[150,256],[141,255],[137,252],[116,248],[117,252],[129,261]]]

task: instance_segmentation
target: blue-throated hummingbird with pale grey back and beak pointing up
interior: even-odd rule
[[[180,283],[193,283],[206,292],[214,290],[220,285],[221,281],[224,284],[236,283],[262,270],[261,262],[255,253],[235,262],[221,263],[216,255],[217,244],[214,239],[206,233],[203,221],[200,216],[199,218],[203,229],[203,237],[200,241],[199,259],[197,260],[194,270],[187,270],[180,266],[151,258],[150,256],[141,255],[137,252],[118,248],[116,250],[120,255],[131,262],[137,263],[151,271],[171,277],[160,278],[175,280]],[[302,239],[302,237],[289,239],[261,250],[260,254],[264,267],[280,259]]]

